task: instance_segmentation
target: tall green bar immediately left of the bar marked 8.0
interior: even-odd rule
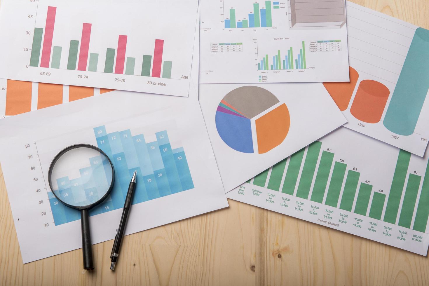
[[[314,170],[316,170],[321,147],[322,142],[320,141],[315,141],[308,146],[304,167],[302,168],[301,178],[299,179],[298,190],[296,191],[297,197],[308,199],[308,193],[310,193],[311,182],[313,181]]]

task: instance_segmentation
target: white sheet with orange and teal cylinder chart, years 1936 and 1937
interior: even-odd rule
[[[350,82],[324,83],[347,128],[423,156],[429,30],[347,2]]]

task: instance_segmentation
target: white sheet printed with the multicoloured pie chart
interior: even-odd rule
[[[199,102],[226,192],[346,122],[321,83],[200,84]]]

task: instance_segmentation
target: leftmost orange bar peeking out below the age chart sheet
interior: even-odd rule
[[[31,111],[30,81],[7,80],[6,87],[6,115],[16,115]]]

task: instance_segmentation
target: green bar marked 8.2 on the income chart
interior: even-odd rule
[[[419,192],[420,180],[422,177],[414,174],[408,176],[407,188],[405,189],[404,202],[402,202],[401,214],[399,215],[399,225],[410,228],[413,218],[414,207],[416,205],[417,193]],[[426,206],[429,207],[429,206]]]

